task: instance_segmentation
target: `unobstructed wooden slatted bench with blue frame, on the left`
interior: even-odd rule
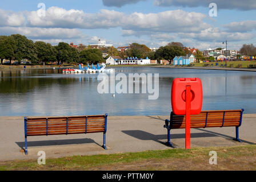
[[[103,148],[106,147],[107,114],[73,117],[24,118],[25,154],[27,137],[42,135],[69,135],[103,133]]]

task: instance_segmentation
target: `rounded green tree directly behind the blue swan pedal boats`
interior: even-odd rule
[[[103,62],[102,52],[99,49],[85,49],[79,53],[79,60],[83,64],[97,64]]]

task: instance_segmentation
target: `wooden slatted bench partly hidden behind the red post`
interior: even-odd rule
[[[243,109],[202,111],[198,115],[191,115],[190,127],[206,128],[235,126],[235,140],[241,142],[241,140],[239,139],[238,128],[242,125],[243,111]],[[171,112],[170,120],[166,119],[165,125],[163,127],[167,129],[167,144],[172,146],[170,143],[170,130],[185,129],[186,116],[175,115],[173,112]]]

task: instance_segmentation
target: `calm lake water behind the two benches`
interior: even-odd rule
[[[99,94],[98,73],[0,70],[0,115],[169,115],[171,83],[177,77],[201,78],[203,110],[243,108],[256,113],[255,72],[133,67],[115,68],[115,73],[159,73],[158,100],[148,100],[149,94]]]

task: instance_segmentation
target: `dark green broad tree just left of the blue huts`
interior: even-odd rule
[[[157,59],[165,59],[165,60],[169,60],[169,62],[171,62],[171,60],[174,59],[175,56],[185,56],[186,53],[183,51],[182,47],[179,46],[165,46],[165,47],[160,47],[159,49],[157,49],[157,51],[155,51],[155,57]]]

